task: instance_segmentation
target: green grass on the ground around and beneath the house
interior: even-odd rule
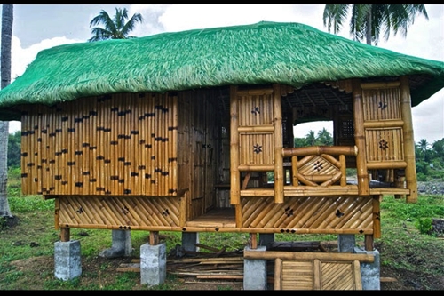
[[[19,181],[18,181],[19,180]],[[52,258],[54,243],[59,241],[59,230],[54,228],[54,200],[41,196],[21,196],[20,176],[10,178],[8,201],[19,224],[8,228],[0,223],[0,287],[4,290],[181,290],[183,284],[173,276],[167,276],[163,284],[154,287],[140,286],[139,273],[115,272],[115,261],[96,263],[100,251],[112,244],[111,231],[106,229],[71,229],[71,239],[82,244],[84,262],[97,268],[84,272],[81,278],[61,281],[53,276],[53,266],[25,270],[17,268],[14,262]],[[444,276],[442,237],[432,234],[432,218],[444,218],[443,196],[419,196],[416,204],[407,204],[404,199],[385,196],[381,203],[382,237],[375,239],[380,252],[381,266],[400,270],[420,272],[424,276]],[[160,232],[166,243],[167,253],[181,244],[181,233]],[[139,248],[146,244],[148,231],[131,231],[133,257],[139,257]],[[202,244],[222,248],[227,252],[243,250],[248,244],[249,234],[244,233],[201,233]],[[337,241],[335,235],[291,235],[276,234],[276,241]],[[363,244],[364,237],[356,236],[357,244]],[[136,290],[137,290],[136,289]],[[230,290],[220,285],[218,290]]]

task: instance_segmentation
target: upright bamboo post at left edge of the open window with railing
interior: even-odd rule
[[[273,112],[274,112],[274,203],[283,204],[283,170],[282,151],[282,109],[281,85],[273,84]]]

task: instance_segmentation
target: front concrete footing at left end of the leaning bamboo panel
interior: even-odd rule
[[[257,249],[245,247],[248,251],[266,251],[266,246],[258,246]],[[267,290],[266,260],[243,260],[243,290]]]

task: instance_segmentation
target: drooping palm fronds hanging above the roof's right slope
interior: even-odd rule
[[[429,20],[424,4],[326,4],[324,26],[329,28],[329,32],[333,28],[333,33],[337,34],[350,10],[350,35],[353,40],[365,40],[369,45],[372,42],[377,45],[381,30],[387,41],[391,31],[395,36],[398,31],[407,36],[408,27],[418,15]]]

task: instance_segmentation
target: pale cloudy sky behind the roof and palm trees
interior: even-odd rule
[[[36,54],[60,44],[83,43],[91,37],[90,21],[101,10],[110,16],[115,8],[127,8],[129,16],[138,12],[144,19],[132,36],[151,36],[194,28],[214,28],[253,24],[262,20],[298,22],[328,32],[323,25],[324,4],[14,4],[12,28],[12,82],[25,71]],[[425,4],[429,20],[418,16],[407,36],[393,32],[378,47],[428,60],[444,61],[444,4]],[[1,24],[0,24],[1,27]],[[348,21],[338,34],[352,39]],[[412,109],[415,141],[429,143],[444,138],[444,89]],[[331,123],[298,124],[295,137]],[[20,130],[20,122],[10,122],[10,132]]]

